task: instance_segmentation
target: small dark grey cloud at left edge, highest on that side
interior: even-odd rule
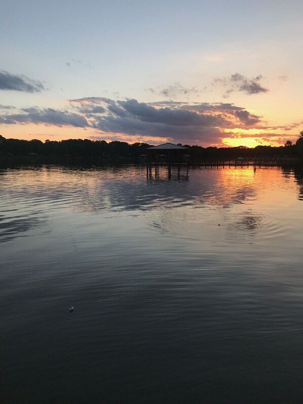
[[[12,75],[8,71],[0,71],[0,90],[24,91],[39,93],[45,91],[44,85],[37,80],[30,80],[26,76]]]

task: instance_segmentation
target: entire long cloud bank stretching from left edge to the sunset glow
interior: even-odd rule
[[[69,100],[64,110],[29,107],[3,110],[2,124],[45,124],[95,129],[106,139],[154,138],[172,142],[218,143],[224,131],[259,128],[262,117],[233,103],[138,102],[85,97]]]

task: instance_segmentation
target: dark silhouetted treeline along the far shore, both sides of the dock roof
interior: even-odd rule
[[[261,157],[290,157],[297,158],[302,153],[302,137],[295,144],[287,141],[284,146],[263,146],[247,148],[246,146],[216,148],[183,144],[188,148],[184,153],[191,156],[191,160],[214,160],[236,158]],[[178,143],[180,144],[180,143]],[[146,154],[146,148],[152,144],[133,143],[122,141],[106,142],[105,140],[68,139],[68,140],[19,140],[6,139],[0,135],[0,156],[72,156],[76,158],[139,158]]]

